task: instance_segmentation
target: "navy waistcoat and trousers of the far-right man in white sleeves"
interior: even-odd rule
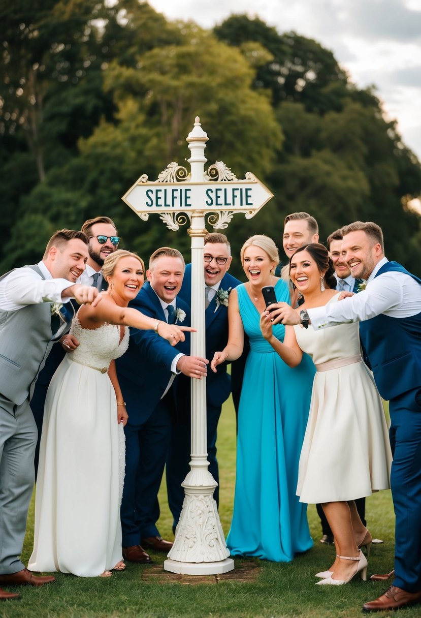
[[[421,280],[396,262],[396,271]],[[381,313],[360,322],[360,337],[378,392],[389,400],[393,454],[391,489],[396,516],[393,584],[421,591],[421,313],[393,318]]]

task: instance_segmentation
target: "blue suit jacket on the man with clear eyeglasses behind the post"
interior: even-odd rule
[[[220,283],[219,289],[228,290],[239,286],[241,281],[229,273],[225,273]],[[204,290],[203,290],[204,292]],[[178,298],[182,298],[188,305],[191,305],[191,264],[186,266]],[[214,353],[223,350],[228,341],[228,307],[219,305],[217,310],[216,297],[212,298],[205,312],[206,320],[206,358],[211,362]],[[219,365],[217,373],[214,373],[209,365],[207,366],[206,377],[206,396],[209,405],[219,407],[228,399],[231,392],[231,380],[227,373],[227,363]]]

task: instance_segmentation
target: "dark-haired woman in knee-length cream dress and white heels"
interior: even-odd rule
[[[293,284],[302,292],[306,308],[337,302],[333,265],[323,245],[299,248],[290,260]],[[319,585],[348,583],[358,572],[365,578],[367,560],[361,547],[372,542],[361,522],[354,499],[390,488],[391,451],[388,430],[374,380],[362,360],[358,324],[315,331],[286,327],[282,344],[272,335],[267,311],[262,334],[290,366],[302,352],[316,366],[306,434],[299,460],[297,494],[300,501],[322,503],[333,531],[336,560],[320,572]],[[273,318],[277,323],[277,318]]]

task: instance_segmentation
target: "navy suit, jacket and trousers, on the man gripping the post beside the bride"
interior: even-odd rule
[[[177,298],[176,306],[185,311],[183,325],[188,326],[188,305]],[[166,321],[159,298],[149,282],[143,285],[129,307]],[[171,416],[175,413],[174,384],[165,397],[162,395],[172,377],[172,361],[180,352],[190,353],[188,334],[185,342],[172,347],[152,330],[130,328],[128,350],[116,361],[128,413],[121,507],[123,547],[138,545],[144,537],[159,536],[157,494],[170,444]]]

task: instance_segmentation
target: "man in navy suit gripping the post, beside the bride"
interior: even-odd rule
[[[176,249],[161,247],[152,253],[148,282],[129,306],[156,318],[156,332],[130,328],[128,350],[116,362],[128,412],[121,519],[123,557],[131,562],[151,562],[144,548],[168,552],[172,547],[160,536],[156,522],[175,414],[173,381],[180,372],[199,379],[207,373],[206,358],[187,355],[190,337],[172,347],[157,335],[161,321],[188,326],[188,305],[177,298],[184,269],[183,256]]]

